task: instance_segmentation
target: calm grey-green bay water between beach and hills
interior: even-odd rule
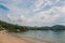
[[[64,30],[29,30],[26,32],[17,32],[18,35],[30,37],[41,40],[50,41],[62,41],[65,43],[65,31]]]

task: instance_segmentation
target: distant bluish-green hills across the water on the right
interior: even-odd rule
[[[48,26],[47,27],[35,27],[35,28],[31,28],[31,30],[65,30],[65,26],[63,25],[55,25],[52,27],[48,27]]]

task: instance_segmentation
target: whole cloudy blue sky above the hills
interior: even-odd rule
[[[65,25],[65,0],[0,0],[0,20],[21,26]]]

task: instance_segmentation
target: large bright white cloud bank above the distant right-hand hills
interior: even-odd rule
[[[60,10],[61,8],[57,8],[57,6],[54,6],[54,8],[52,8],[51,10],[49,10],[49,11],[42,11],[42,12],[39,12],[39,13],[37,13],[35,16],[32,16],[32,17],[30,17],[30,19],[32,19],[31,20],[31,23],[32,24],[35,24],[35,25],[39,25],[39,26],[44,26],[44,25],[55,25],[58,20],[57,19],[60,19],[60,17],[62,17],[62,18],[64,18],[65,17],[65,15],[64,14],[62,14],[63,12]],[[63,16],[64,17],[63,17]],[[57,22],[55,22],[55,20],[57,20]],[[62,19],[63,20],[63,19]],[[63,20],[63,22],[65,22],[65,20]],[[40,24],[44,24],[44,25],[40,25]],[[63,23],[62,23],[63,24]],[[50,26],[49,25],[49,26]]]

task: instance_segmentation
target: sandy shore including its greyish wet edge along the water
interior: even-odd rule
[[[20,37],[6,31],[0,31],[0,43],[55,43],[54,41],[44,41],[35,38]]]

